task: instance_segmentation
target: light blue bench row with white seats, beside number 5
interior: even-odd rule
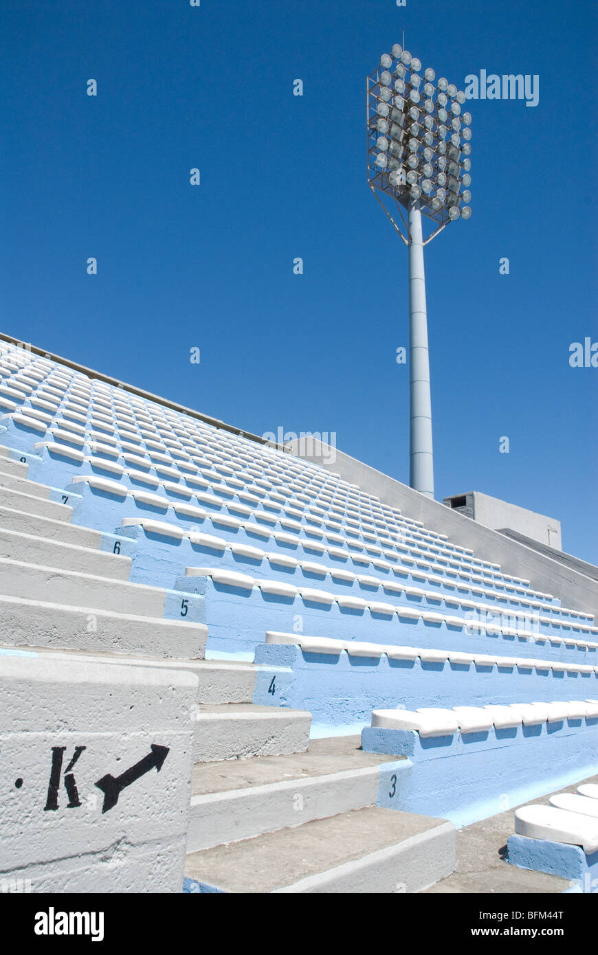
[[[205,557],[215,553],[230,555],[227,541],[213,536],[209,541],[200,541],[205,548]],[[241,542],[241,541],[240,541]],[[248,542],[248,541],[247,541]],[[245,541],[243,541],[245,543]],[[139,541],[138,541],[139,545]],[[180,546],[190,547],[183,539]],[[211,553],[208,553],[211,551]],[[139,551],[135,560],[139,559]],[[144,558],[146,560],[146,558]],[[306,628],[322,636],[367,641],[384,645],[414,645],[435,649],[455,650],[463,653],[479,652],[485,647],[498,652],[487,654],[488,667],[510,666],[502,663],[502,658],[517,657],[522,660],[537,660],[537,647],[533,638],[524,634],[513,638],[497,632],[493,636],[483,635],[470,629],[468,622],[459,619],[454,611],[427,613],[425,606],[407,605],[394,601],[380,602],[378,594],[367,590],[339,592],[338,588],[324,589],[319,581],[294,579],[287,580],[280,575],[263,577],[255,573],[257,567],[245,562],[237,562],[239,572],[243,572],[243,588],[226,583],[225,576],[217,584],[212,571],[228,571],[235,563],[228,559],[227,564],[216,567],[187,567],[184,577],[176,579],[175,586],[186,592],[201,593],[204,598],[205,622],[212,633],[212,649],[225,652],[249,651],[263,643],[263,634],[267,630],[287,630],[290,617],[300,614],[305,618]],[[135,568],[135,564],[134,564]],[[246,573],[251,569],[254,573]],[[237,571],[235,571],[237,572]],[[252,579],[253,585],[249,586]],[[311,585],[308,586],[307,584]],[[391,609],[392,608],[392,609]],[[243,620],[243,623],[242,623]],[[280,626],[280,623],[283,626]],[[515,653],[513,653],[515,649]],[[492,659],[489,659],[492,657]],[[594,672],[597,661],[596,649],[587,648],[586,643],[574,647],[545,647],[545,661],[554,661],[554,669],[568,671],[568,665],[574,665],[571,672],[580,677]],[[484,661],[480,660],[482,666]],[[525,664],[523,664],[525,666]],[[529,663],[531,669],[536,663]],[[589,667],[590,669],[583,669]],[[590,690],[591,691],[591,690]]]

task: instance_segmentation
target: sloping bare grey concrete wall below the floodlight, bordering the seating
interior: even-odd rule
[[[363,464],[354,457],[331,448],[314,446],[309,457],[299,454],[297,442],[287,445],[288,451],[339,474],[344,480],[375,495],[384,503],[400,508],[412,520],[421,520],[449,541],[471,548],[476,557],[500,563],[509,574],[529,580],[532,587],[560,597],[563,605],[598,615],[598,582],[586,575],[540,554],[519,541],[512,541],[476,520],[462,517],[436,500],[424,497],[393,477]]]

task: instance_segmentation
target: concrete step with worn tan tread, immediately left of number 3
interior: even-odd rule
[[[307,753],[195,766],[187,852],[374,806],[379,765],[359,736],[312,739]]]

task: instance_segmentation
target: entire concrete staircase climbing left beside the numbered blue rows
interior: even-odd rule
[[[131,583],[131,558],[100,549],[100,532],[8,455],[0,647],[199,677],[186,891],[414,892],[453,871],[451,823],[376,808],[395,757],[358,737],[310,742],[309,712],[254,705],[257,668],[204,659],[207,628],[164,617],[168,592]]]

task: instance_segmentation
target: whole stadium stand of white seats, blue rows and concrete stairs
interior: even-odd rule
[[[0,379],[0,673],[180,687],[186,892],[426,890],[456,826],[598,773],[591,610],[95,372],[0,341]]]

